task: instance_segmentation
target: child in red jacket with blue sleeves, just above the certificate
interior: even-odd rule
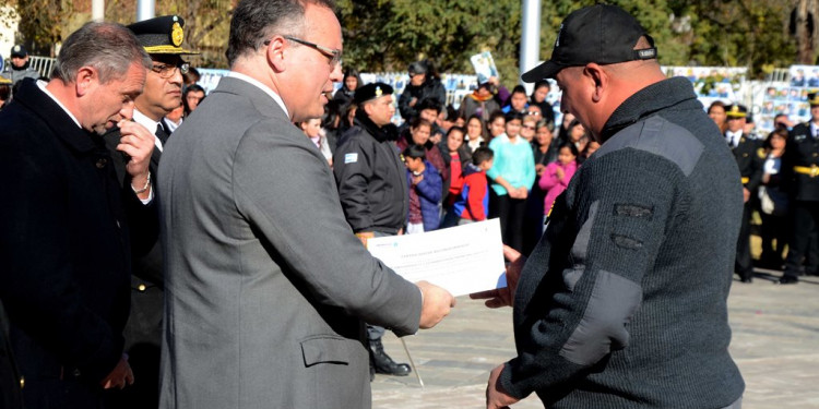
[[[458,225],[486,220],[489,210],[489,185],[486,171],[492,167],[495,154],[488,147],[480,146],[472,153],[472,163],[463,170],[461,194],[453,204]]]

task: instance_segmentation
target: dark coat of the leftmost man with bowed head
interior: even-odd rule
[[[38,395],[38,381],[72,376],[99,388],[120,360],[131,242],[155,240],[157,216],[117,182],[103,139],[34,81],[24,80],[0,125],[0,171],[14,175],[0,201],[0,299],[33,408],[52,398]]]

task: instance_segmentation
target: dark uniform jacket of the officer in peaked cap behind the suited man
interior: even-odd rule
[[[153,131],[153,130],[149,130]],[[114,169],[117,171],[117,180],[127,188],[128,175],[126,173],[127,158],[117,151],[121,134],[118,128],[112,128],[103,139],[108,152],[114,159]],[[163,141],[164,143],[165,141]],[[154,197],[158,196],[156,182],[157,169],[162,151],[154,148],[151,154],[152,189]],[[158,220],[157,220],[158,224]],[[162,308],[163,308],[163,266],[162,245],[159,240],[150,243],[146,254],[134,254],[131,274],[131,317],[126,327],[126,350],[135,344],[147,342],[157,348],[162,346]],[[144,252],[142,252],[144,253]]]

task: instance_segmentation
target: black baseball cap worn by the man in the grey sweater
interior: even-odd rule
[[[650,48],[636,50],[644,36]],[[573,11],[560,24],[551,59],[521,75],[527,83],[554,79],[567,67],[590,62],[614,64],[657,58],[654,39],[625,10],[609,4],[596,4]]]

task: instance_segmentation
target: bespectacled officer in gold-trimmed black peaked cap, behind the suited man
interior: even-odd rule
[[[152,60],[145,87],[134,99],[133,121],[126,128],[111,129],[104,135],[111,152],[120,182],[124,181],[126,158],[116,154],[123,135],[140,133],[154,141],[151,175],[157,178],[162,151],[168,142],[163,118],[181,106],[182,74],[188,63],[181,56],[197,55],[181,47],[185,21],[177,15],[145,20],[128,26]],[[156,407],[159,401],[159,349],[163,317],[163,256],[158,240],[145,249],[146,254],[133,258],[131,275],[131,315],[126,327],[126,350],[134,376],[141,381],[133,388],[110,394],[109,405],[117,408]]]

